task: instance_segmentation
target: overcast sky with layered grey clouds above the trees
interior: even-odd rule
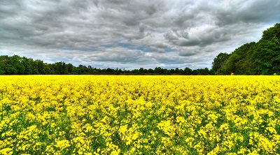
[[[1,0],[0,55],[96,68],[211,68],[280,22],[280,0]]]

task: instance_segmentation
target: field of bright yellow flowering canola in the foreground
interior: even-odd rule
[[[0,154],[280,154],[279,76],[0,76]]]

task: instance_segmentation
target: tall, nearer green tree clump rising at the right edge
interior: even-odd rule
[[[218,54],[212,64],[216,75],[280,75],[280,23],[263,31],[257,43]]]

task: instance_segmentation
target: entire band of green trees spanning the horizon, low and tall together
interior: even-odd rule
[[[54,64],[13,55],[0,56],[0,75],[280,75],[280,23],[262,32],[255,43],[245,43],[228,54],[221,52],[212,62],[211,69],[192,70],[139,68],[132,71],[120,68],[73,66],[64,61]]]

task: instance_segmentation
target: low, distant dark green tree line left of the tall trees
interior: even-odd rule
[[[113,68],[94,68],[92,66],[73,66],[63,61],[54,64],[44,63],[39,59],[20,57],[13,55],[0,56],[0,75],[213,75],[208,68],[192,70],[166,69],[156,67],[154,69],[139,68],[132,71]]]

